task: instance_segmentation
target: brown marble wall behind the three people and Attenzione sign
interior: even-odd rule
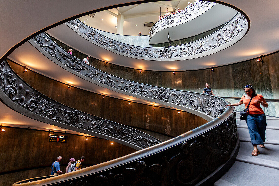
[[[18,180],[50,175],[50,166],[57,156],[62,156],[60,164],[68,164],[70,158],[73,157],[77,160],[81,156],[85,156],[85,164],[99,164],[136,151],[131,147],[116,142],[111,144],[111,141],[100,138],[88,137],[88,140],[85,140],[85,136],[66,134],[68,142],[57,143],[49,142],[49,132],[47,131],[3,128],[6,131],[0,134],[0,159],[2,162],[0,172],[47,165],[49,168],[43,173],[27,171],[26,174],[24,172],[4,174],[0,177],[2,183],[3,180],[9,180],[11,175],[17,177],[21,175]],[[64,171],[65,167],[61,170]],[[13,179],[13,182],[18,180]],[[0,185],[7,184],[0,182]]]

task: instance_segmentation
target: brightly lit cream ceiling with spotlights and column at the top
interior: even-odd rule
[[[194,4],[194,0],[190,2]],[[141,3],[100,11],[95,13],[94,18],[86,15],[79,19],[82,22],[85,21],[85,24],[90,27],[116,34],[117,15],[122,14],[124,16],[123,35],[138,35],[140,32],[142,35],[149,35],[151,27],[144,27],[143,23],[156,23],[160,16],[160,6],[161,15],[164,15],[167,8],[172,12],[175,7],[183,10],[187,5],[188,0]]]

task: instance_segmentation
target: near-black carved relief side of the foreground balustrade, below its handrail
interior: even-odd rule
[[[171,149],[70,182],[76,185],[195,185],[229,159],[236,142],[234,113],[217,127]]]

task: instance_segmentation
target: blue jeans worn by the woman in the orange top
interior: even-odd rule
[[[264,114],[247,115],[246,123],[251,143],[262,145],[265,142],[266,116]]]

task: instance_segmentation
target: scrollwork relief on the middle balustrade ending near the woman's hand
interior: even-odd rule
[[[38,42],[38,40],[40,42]],[[215,97],[207,96],[206,94],[198,94],[193,92],[187,92],[182,90],[172,90],[162,87],[155,87],[150,85],[144,85],[132,81],[128,81],[119,77],[115,77],[103,71],[100,71],[92,66],[86,65],[83,61],[71,56],[67,51],[62,49],[59,45],[53,42],[45,33],[38,35],[36,38],[30,40],[30,43],[35,47],[39,46],[49,55],[49,46],[52,46],[51,56],[54,58],[54,62],[57,63],[56,59],[59,59],[62,64],[68,68],[80,73],[85,78],[90,78],[96,82],[107,85],[111,88],[122,90],[123,93],[128,92],[129,94],[135,94],[143,97],[152,98],[155,100],[174,103],[176,105],[184,106],[203,114],[206,114],[212,118],[216,118],[218,115],[225,111],[225,102]],[[43,44],[41,44],[43,43]],[[164,52],[160,53],[163,56],[171,55],[172,51],[169,49],[163,49]],[[48,56],[49,57],[49,56]],[[76,66],[75,66],[76,65]]]

